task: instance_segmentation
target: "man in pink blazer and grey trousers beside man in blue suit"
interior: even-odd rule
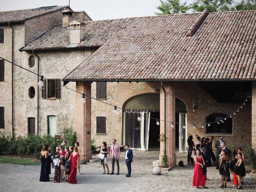
[[[120,157],[120,147],[118,144],[116,144],[116,139],[112,140],[112,145],[110,147],[110,159],[112,160],[112,172],[110,175],[114,174],[115,169],[115,161],[116,161],[116,167],[117,167],[117,175],[119,175],[119,157]]]

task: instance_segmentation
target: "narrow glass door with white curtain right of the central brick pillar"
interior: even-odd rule
[[[186,139],[187,139],[187,114],[179,113],[179,151],[186,153]],[[185,126],[185,128],[184,128]]]

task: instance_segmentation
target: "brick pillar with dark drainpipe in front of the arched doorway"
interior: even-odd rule
[[[166,90],[166,155],[168,158],[168,166],[176,166],[175,153],[175,88],[173,83],[164,83]],[[164,91],[160,88],[160,119],[164,120]],[[174,123],[174,128],[171,123]],[[164,133],[164,122],[160,121],[160,134]],[[164,142],[160,142],[160,156],[159,164],[162,162],[162,155],[164,154]]]

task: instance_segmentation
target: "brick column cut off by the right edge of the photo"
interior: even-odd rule
[[[256,83],[252,83],[252,148],[256,150]]]

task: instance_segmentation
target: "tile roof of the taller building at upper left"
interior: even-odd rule
[[[30,18],[40,16],[42,14],[50,13],[56,10],[62,10],[68,6],[56,6],[51,9],[46,10],[33,10],[32,9],[23,9],[23,10],[14,10],[14,11],[3,11],[0,12],[0,24],[7,22],[22,22]]]

